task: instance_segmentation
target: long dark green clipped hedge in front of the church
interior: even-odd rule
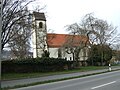
[[[2,61],[2,73],[31,73],[61,71],[67,65],[71,68],[72,61],[61,58],[26,58]]]

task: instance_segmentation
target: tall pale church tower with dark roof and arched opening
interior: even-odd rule
[[[46,43],[46,18],[44,13],[33,12],[33,57],[41,57],[43,52],[47,50]]]

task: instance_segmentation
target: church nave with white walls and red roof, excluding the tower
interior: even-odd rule
[[[69,34],[47,34],[47,47],[50,52],[50,57],[62,57],[67,58],[67,60],[73,60],[73,54],[75,53],[75,48],[80,47],[80,45],[86,45],[87,37],[80,35],[69,35]],[[82,47],[80,47],[82,48]],[[79,52],[79,60],[87,60],[88,58],[88,48],[83,46]]]

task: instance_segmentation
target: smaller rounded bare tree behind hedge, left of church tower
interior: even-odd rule
[[[16,58],[29,57],[30,43],[25,34],[15,34],[14,41],[9,42],[11,52]]]

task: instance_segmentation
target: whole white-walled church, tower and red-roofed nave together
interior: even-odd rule
[[[46,17],[44,13],[33,12],[32,48],[33,58],[42,57],[44,51],[49,52],[49,57],[66,58],[74,60],[75,47],[83,46],[88,38],[83,35],[47,33]],[[87,44],[79,51],[79,60],[88,59]]]

